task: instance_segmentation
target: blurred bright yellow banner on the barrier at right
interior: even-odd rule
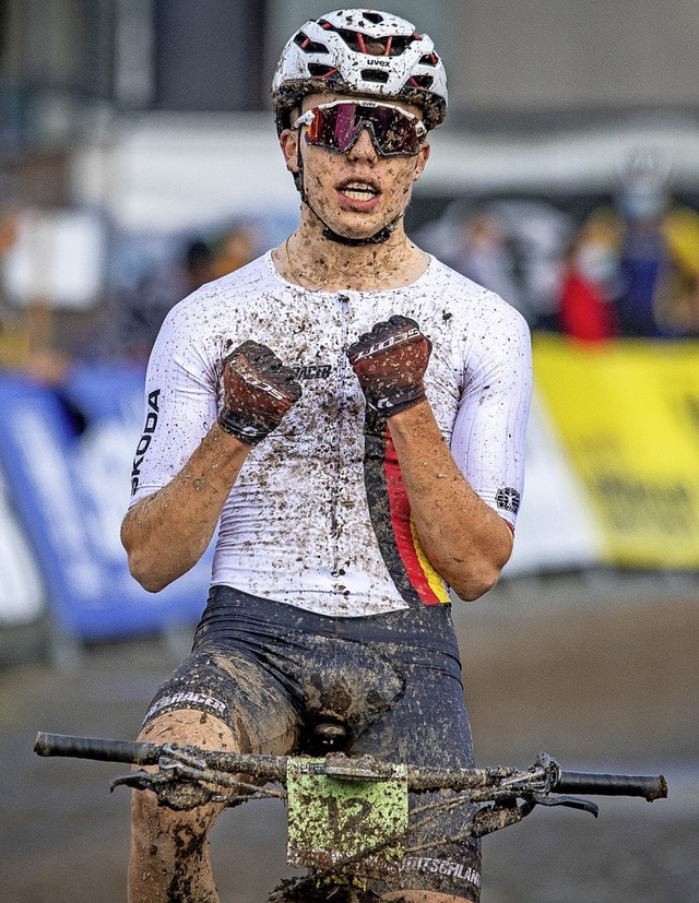
[[[699,567],[699,342],[537,335],[534,376],[608,560]]]

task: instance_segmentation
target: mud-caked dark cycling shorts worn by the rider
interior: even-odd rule
[[[325,617],[214,586],[191,654],[159,688],[145,723],[194,709],[226,723],[244,752],[319,755],[318,724],[346,732],[347,755],[473,768],[449,605]],[[441,796],[451,792],[440,791]],[[431,794],[411,795],[411,809]],[[479,844],[460,837],[464,806],[411,818],[401,880],[372,890],[434,890],[477,903]],[[433,843],[437,841],[435,845]]]

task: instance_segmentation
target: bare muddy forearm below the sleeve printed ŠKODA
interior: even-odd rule
[[[180,473],[130,509],[121,542],[145,590],[162,590],[199,561],[250,450],[214,424]]]

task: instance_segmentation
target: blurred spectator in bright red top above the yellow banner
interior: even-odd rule
[[[574,236],[564,258],[559,322],[567,335],[601,342],[618,335],[616,230],[600,217]]]

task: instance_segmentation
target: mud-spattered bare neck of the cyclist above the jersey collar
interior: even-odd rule
[[[309,221],[301,212],[298,228],[273,256],[280,274],[304,288],[320,292],[400,288],[415,282],[427,268],[427,254],[407,238],[402,221],[384,242],[354,247],[325,238],[322,226]]]

